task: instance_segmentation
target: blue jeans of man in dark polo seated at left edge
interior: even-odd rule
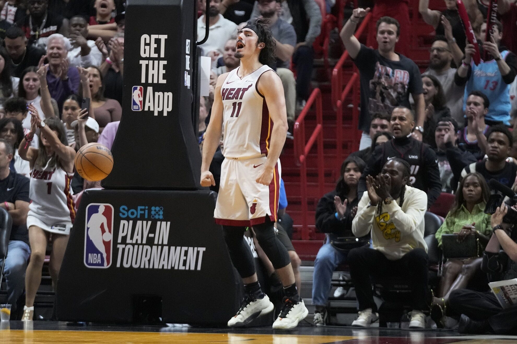
[[[21,240],[10,240],[9,251],[5,259],[4,277],[7,285],[7,303],[14,308],[25,288],[25,270],[27,260],[31,256],[31,248]],[[0,259],[0,269],[3,259]]]

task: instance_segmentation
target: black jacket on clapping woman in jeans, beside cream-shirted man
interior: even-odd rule
[[[343,220],[336,218],[336,206],[334,206],[334,196],[336,190],[326,193],[318,202],[316,207],[316,231],[319,233],[332,233],[342,237],[353,237],[352,220],[350,216],[352,208],[359,204],[359,199],[355,199],[346,206],[345,217]],[[343,200],[341,200],[343,201]]]

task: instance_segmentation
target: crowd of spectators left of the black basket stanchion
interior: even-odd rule
[[[99,186],[73,173],[73,156],[90,142],[111,149],[122,112],[124,30],[124,1],[0,1],[0,206],[13,220],[4,273],[6,303],[18,319],[22,309],[17,309],[17,300],[24,289],[23,316],[32,319],[48,239],[42,240],[46,232],[27,225],[29,202],[37,199],[32,173],[44,162],[34,160],[34,152],[58,151],[48,164],[58,159],[59,168],[70,176],[64,196],[77,199],[84,188]],[[44,132],[45,126],[54,135],[34,135],[36,127]],[[47,171],[49,166],[40,168]],[[47,178],[42,175],[34,178]],[[58,205],[44,206],[68,219],[74,211],[61,214],[65,210]],[[55,282],[68,236],[54,233],[52,239],[50,272]]]

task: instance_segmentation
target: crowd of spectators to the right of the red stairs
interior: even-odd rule
[[[517,332],[504,318],[517,308],[503,309],[488,291],[489,281],[515,277],[515,224],[503,217],[517,208],[503,204],[485,212],[491,194],[500,192],[494,181],[517,189],[516,27],[509,19],[517,7],[512,0],[500,2],[498,20],[486,35],[486,4],[465,0],[464,5],[478,47],[466,40],[455,1],[445,0],[440,11],[419,0],[419,12],[436,35],[427,66],[408,57],[406,1],[356,8],[341,29],[359,70],[363,133],[359,151],[343,162],[336,190],[323,195],[316,209],[316,230],[326,234],[314,264],[316,325],[328,322],[332,272],[347,264],[359,308],[353,326],[378,319],[372,281],[389,278],[409,286],[410,328]],[[375,25],[365,45],[354,33],[370,11]],[[477,49],[484,57],[479,63],[473,59]],[[424,215],[446,193],[455,201],[444,209],[436,240],[424,240]],[[457,245],[452,251],[451,235]],[[428,285],[429,245],[440,255],[443,249],[434,290]],[[475,253],[457,255],[467,247]]]

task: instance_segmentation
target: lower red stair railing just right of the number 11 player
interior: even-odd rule
[[[316,106],[316,127],[312,132],[307,143],[305,143],[305,116],[311,109],[312,105]],[[317,140],[317,171],[318,171],[318,187],[320,194],[324,191],[324,159],[323,159],[323,108],[322,108],[322,92],[319,88],[312,91],[306,106],[298,116],[294,123],[294,156],[300,165],[300,196],[301,196],[301,211],[302,211],[302,231],[301,239],[309,240],[310,230],[307,225],[307,156],[312,149],[312,146]]]

